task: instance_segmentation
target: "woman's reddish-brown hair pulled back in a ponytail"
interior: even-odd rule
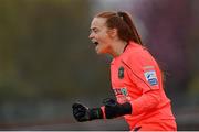
[[[130,14],[127,12],[105,11],[96,15],[96,18],[105,18],[107,28],[117,29],[118,37],[123,41],[134,41],[143,45],[140,36],[132,21]]]

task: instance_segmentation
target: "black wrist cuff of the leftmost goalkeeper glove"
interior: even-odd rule
[[[103,119],[103,111],[101,108],[90,109],[90,120]]]

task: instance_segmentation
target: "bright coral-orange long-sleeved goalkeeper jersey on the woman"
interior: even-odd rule
[[[117,101],[132,103],[132,114],[125,116],[130,130],[136,127],[143,127],[140,130],[176,130],[161,72],[145,47],[129,42],[124,53],[112,61],[111,79]]]

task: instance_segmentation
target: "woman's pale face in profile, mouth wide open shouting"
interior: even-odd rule
[[[88,37],[95,44],[95,51],[97,54],[105,54],[111,52],[111,37],[106,26],[106,19],[93,19],[91,23],[91,34]]]

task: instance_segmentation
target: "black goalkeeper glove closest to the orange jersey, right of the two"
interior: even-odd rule
[[[105,106],[105,114],[107,119],[132,113],[132,105],[129,102],[119,105],[116,100],[107,98],[103,100],[103,103]]]

